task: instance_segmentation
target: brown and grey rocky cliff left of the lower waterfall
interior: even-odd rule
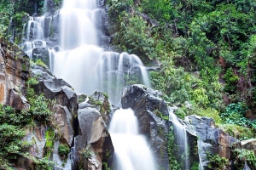
[[[30,156],[44,158],[50,153],[50,160],[56,163],[55,169],[62,169],[63,160],[58,153],[58,147],[60,144],[68,144],[69,147],[76,148],[73,149],[76,152],[72,154],[73,161],[77,160],[78,164],[75,164],[73,169],[81,166],[83,169],[108,167],[113,155],[113,144],[105,123],[109,122],[108,115],[111,111],[107,97],[95,93],[91,95],[90,100],[84,101],[85,105],[89,102],[87,106],[82,104],[79,107],[78,96],[67,82],[53,76],[47,68],[30,65],[26,54],[15,45],[4,42],[3,39],[0,44],[1,104],[28,111],[30,105],[25,96],[26,81],[29,77],[38,81],[33,85],[36,94],[44,94],[46,99],[55,100],[49,124],[36,122],[26,128],[24,141],[32,142],[27,150]],[[49,142],[54,145],[49,145]],[[33,159],[23,156],[18,156],[15,163],[15,167],[24,169],[32,169],[35,166]]]

